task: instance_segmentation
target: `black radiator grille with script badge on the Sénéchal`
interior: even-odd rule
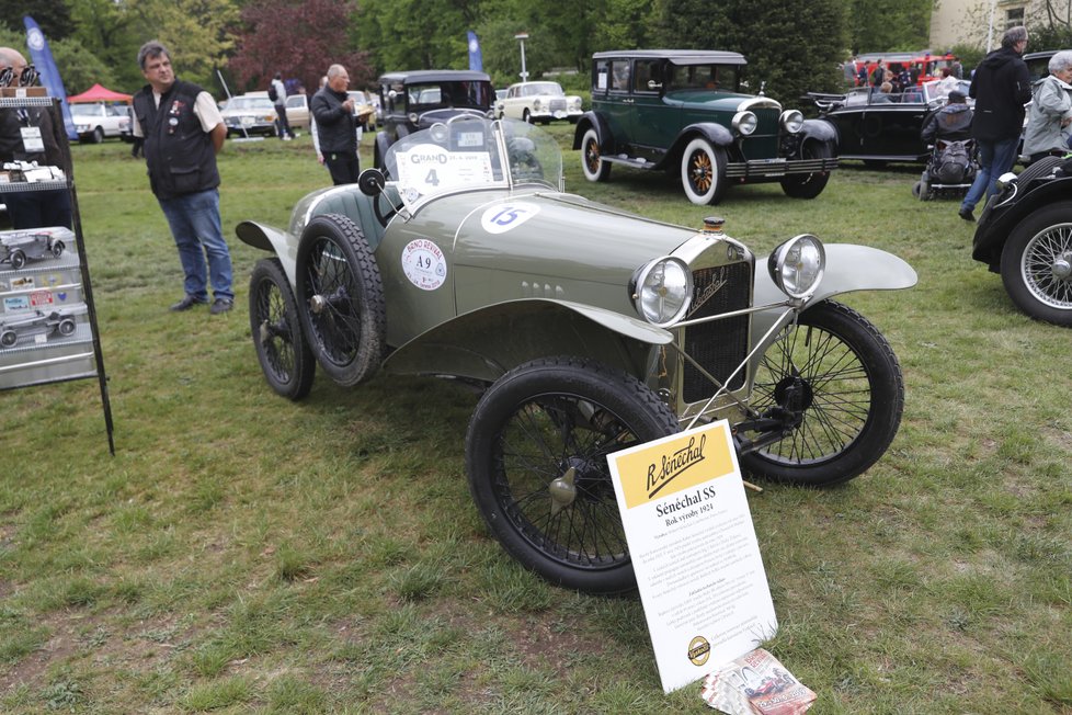
[[[731,263],[693,272],[693,305],[689,320],[749,307],[752,293],[752,264]],[[741,364],[749,350],[749,316],[712,320],[685,329],[685,352],[708,373],[725,383]],[[730,389],[744,385],[744,371],[730,383]],[[715,386],[692,363],[686,362],[682,398],[698,402],[715,393]]]

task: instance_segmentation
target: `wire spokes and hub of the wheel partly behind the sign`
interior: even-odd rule
[[[571,396],[528,400],[499,439],[494,489],[506,518],[548,557],[579,568],[627,561],[606,455],[638,443],[604,408]]]

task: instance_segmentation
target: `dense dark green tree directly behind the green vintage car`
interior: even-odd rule
[[[811,0],[794,12],[773,0],[655,0],[655,41],[668,47],[728,49],[749,60],[752,91],[789,106],[808,91],[841,87],[843,0]]]

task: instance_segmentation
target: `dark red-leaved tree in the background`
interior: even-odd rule
[[[366,87],[375,79],[368,54],[354,49],[347,36],[355,11],[353,3],[333,0],[249,4],[241,13],[248,30],[238,35],[230,70],[243,89],[266,88],[276,72],[283,72],[311,94],[328,66],[339,64],[353,87]]]

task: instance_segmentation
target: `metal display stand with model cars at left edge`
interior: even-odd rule
[[[0,111],[46,107],[62,127],[59,100],[0,98]],[[70,145],[60,132],[64,181],[0,182],[3,194],[65,189],[70,193],[73,230],[56,228],[0,231],[0,390],[96,377],[101,388],[109,451],[115,454],[112,407],[90,282],[82,222],[75,193]],[[18,239],[18,240],[16,240]],[[61,239],[64,246],[53,248]],[[12,260],[11,247],[30,250]],[[50,250],[49,250],[50,249]],[[36,252],[33,252],[36,251]]]

